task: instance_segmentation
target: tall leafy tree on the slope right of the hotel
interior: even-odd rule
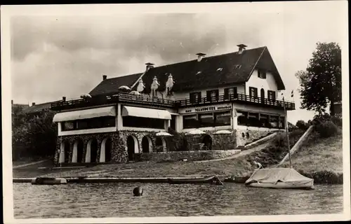
[[[330,104],[331,116],[334,103],[341,100],[341,50],[338,43],[317,43],[317,50],[306,71],[298,71],[300,80],[301,109],[324,113]]]

